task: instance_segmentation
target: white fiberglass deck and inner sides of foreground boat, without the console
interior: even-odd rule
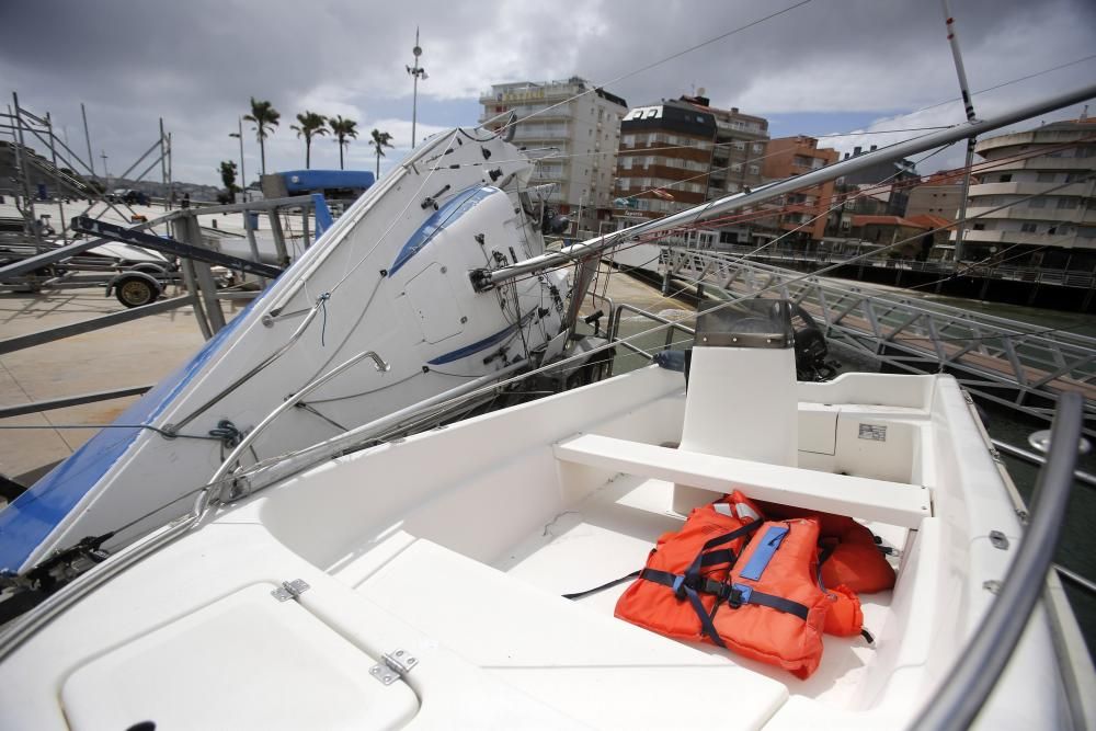
[[[1019,538],[955,382],[857,375],[799,386],[803,469],[785,473],[794,483],[788,502],[826,499],[825,490],[812,494],[801,473],[817,475],[820,486],[847,479],[867,490],[858,500],[869,506],[872,488],[932,496],[923,513],[907,505],[902,525],[870,523],[902,552],[894,591],[861,596],[875,647],[827,636],[808,681],[615,619],[623,585],[579,602],[560,596],[641,568],[658,536],[681,525],[670,480],[699,469],[696,460],[672,473],[647,472],[659,445],[681,439],[683,387],[681,374],[636,372],[350,455],[222,510],[11,655],[0,671],[2,726],[170,719],[179,698],[209,693],[232,694],[238,719],[297,727],[320,699],[329,706],[323,718],[358,727],[364,717],[373,719],[367,726],[704,728],[713,712],[729,728],[907,723],[992,599],[983,581],[1005,574],[1009,551],[993,548],[989,530]],[[857,438],[860,424],[887,426],[888,439]],[[600,461],[589,439],[585,456],[569,454],[580,433],[610,439],[598,449],[614,459],[628,453],[628,464]],[[760,478],[750,479],[757,487]],[[701,501],[722,488],[708,487]],[[266,589],[294,579],[310,589],[274,608],[262,605]],[[263,591],[241,594],[255,584]],[[226,612],[235,624],[217,620]],[[241,632],[241,616],[244,625],[252,617],[281,625],[281,633]],[[88,632],[92,623],[96,631]],[[192,631],[205,638],[202,653],[180,644]],[[277,689],[276,679],[252,687],[229,677],[254,672],[228,663],[229,653],[263,642],[307,663],[316,661],[305,648],[338,653],[342,660],[324,677],[339,687],[312,699],[307,688]],[[174,654],[164,660],[158,648]],[[361,656],[347,655],[351,649]],[[354,667],[397,649],[418,659],[396,684],[406,683],[413,698],[393,690],[355,699],[339,690],[353,688],[346,674]],[[1025,703],[991,699],[981,720],[1054,726],[1055,686],[1031,683],[1054,672],[1041,610],[1017,663],[1021,670],[1006,672],[994,698]],[[285,677],[296,676],[289,670]],[[170,697],[127,696],[126,678],[145,671],[165,674],[170,682],[158,693]],[[89,677],[99,681],[89,685]],[[264,712],[249,716],[256,704]],[[117,708],[134,710],[119,717]]]

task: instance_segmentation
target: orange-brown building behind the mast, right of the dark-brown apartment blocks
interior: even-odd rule
[[[819,147],[818,139],[797,135],[768,140],[762,173],[768,180],[802,175],[837,161],[837,150]],[[778,205],[775,228],[792,239],[821,241],[833,199],[833,181],[796,191],[784,196]]]

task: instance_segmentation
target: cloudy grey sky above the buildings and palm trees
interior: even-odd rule
[[[373,169],[366,138],[375,127],[397,145],[381,173],[398,162],[411,144],[404,66],[416,25],[429,73],[419,87],[420,139],[475,125],[478,98],[492,83],[574,75],[633,106],[704,88],[715,106],[767,117],[773,137],[962,121],[939,2],[798,2],[0,0],[0,90],[19,92],[32,112],[50,112],[60,136],[87,157],[83,102],[96,170],[105,151],[112,175],[156,141],[162,117],[175,179],[212,184],[219,161],[239,157],[228,134],[250,96],[282,113],[267,170],[304,167],[304,141],[289,129],[302,110],[358,122],[362,139],[351,145],[347,168]],[[791,9],[657,64],[783,8]],[[973,91],[1062,67],[975,95],[980,115],[1096,80],[1093,0],[951,0],[951,9]],[[259,147],[246,133],[251,180]],[[825,144],[847,150],[914,134]],[[923,171],[961,164],[958,147]],[[338,164],[334,141],[313,144],[313,168]]]

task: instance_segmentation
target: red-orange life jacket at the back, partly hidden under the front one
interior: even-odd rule
[[[864,525],[845,515],[760,501],[757,505],[773,519],[814,517],[819,521],[825,555],[822,583],[826,587],[845,586],[858,594],[894,587],[894,569]]]

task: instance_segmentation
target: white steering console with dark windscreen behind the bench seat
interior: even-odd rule
[[[799,397],[791,305],[783,299],[705,302],[697,315],[681,448],[796,467]],[[711,492],[674,486],[688,512]]]

